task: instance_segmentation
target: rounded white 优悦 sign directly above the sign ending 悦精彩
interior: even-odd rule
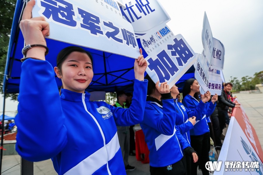
[[[213,54],[212,54],[211,64],[217,69],[223,69],[224,56],[225,56],[224,45],[216,38],[213,38]]]

